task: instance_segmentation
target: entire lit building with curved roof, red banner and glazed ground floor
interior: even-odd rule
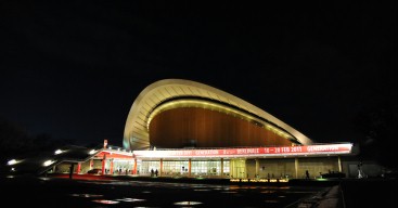
[[[128,115],[124,147],[132,172],[159,176],[303,178],[342,172],[351,144],[313,142],[267,112],[216,88],[181,79],[146,87]]]

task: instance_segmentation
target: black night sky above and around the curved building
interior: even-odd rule
[[[316,142],[357,141],[359,112],[397,105],[396,11],[395,1],[2,1],[0,118],[33,135],[121,146],[137,95],[180,78]]]

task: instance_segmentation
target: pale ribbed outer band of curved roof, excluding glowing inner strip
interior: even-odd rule
[[[286,132],[291,135],[291,139],[296,140],[298,143],[312,143],[309,138],[296,129],[232,94],[191,80],[164,79],[147,86],[132,103],[125,126],[124,147],[128,150],[150,147],[149,122],[151,121],[150,118],[153,117],[151,114],[159,104],[168,100],[188,96],[202,98],[234,106],[243,112],[247,112],[267,120],[267,123],[271,123],[273,127]]]

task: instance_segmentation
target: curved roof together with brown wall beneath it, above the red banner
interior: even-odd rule
[[[137,96],[124,147],[288,146],[312,141],[269,113],[210,86],[164,79]]]

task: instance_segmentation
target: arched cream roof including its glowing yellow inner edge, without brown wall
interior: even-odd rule
[[[150,144],[149,127],[157,114],[178,107],[217,109],[256,122],[295,143],[312,141],[296,129],[267,112],[232,94],[200,82],[183,79],[164,79],[147,86],[133,102],[127,117],[124,147],[143,150]]]

